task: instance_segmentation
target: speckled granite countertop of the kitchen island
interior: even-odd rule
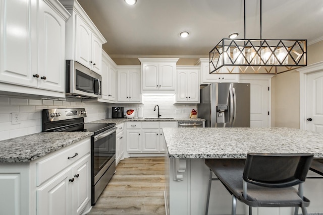
[[[312,153],[323,134],[292,128],[163,128],[170,158],[246,158],[247,153]]]

